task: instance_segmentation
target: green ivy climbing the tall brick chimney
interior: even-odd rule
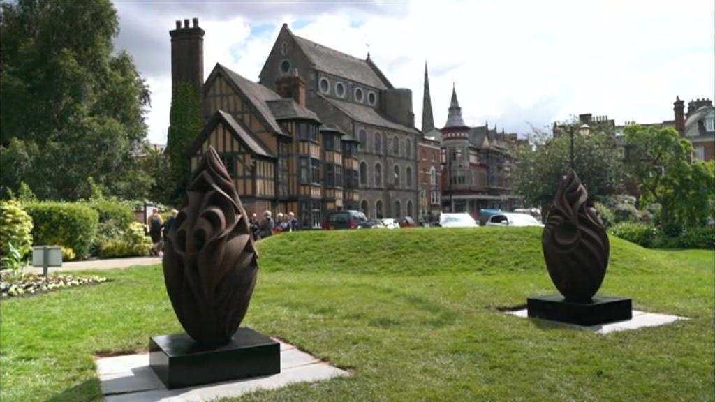
[[[196,89],[189,82],[179,82],[174,87],[169,124],[167,155],[170,175],[168,178],[173,186],[166,189],[169,191],[165,199],[167,202],[181,197],[187,185],[189,161],[186,152],[203,126],[199,97]]]

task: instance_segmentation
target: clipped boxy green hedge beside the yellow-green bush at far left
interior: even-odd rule
[[[87,258],[97,236],[97,211],[80,202],[38,202],[26,210],[34,222],[34,244],[69,247],[77,258]]]

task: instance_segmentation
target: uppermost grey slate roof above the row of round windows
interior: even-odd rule
[[[305,56],[315,65],[315,69],[377,89],[393,87],[369,56],[365,60],[358,59],[295,34],[292,36]]]

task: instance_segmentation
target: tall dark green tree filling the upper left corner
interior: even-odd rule
[[[1,15],[0,184],[22,179],[42,199],[66,200],[88,195],[88,177],[108,195],[148,187],[134,156],[149,88],[129,54],[112,52],[112,4],[19,0]]]

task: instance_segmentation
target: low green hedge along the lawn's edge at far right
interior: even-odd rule
[[[679,234],[667,234],[648,223],[621,222],[608,233],[647,248],[715,248],[715,227],[694,227]]]

